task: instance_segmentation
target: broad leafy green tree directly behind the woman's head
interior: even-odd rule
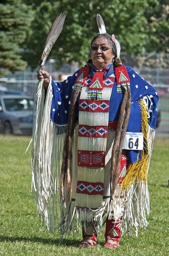
[[[50,26],[56,15],[63,11],[67,11],[68,15],[52,49],[52,58],[59,66],[72,61],[83,65],[88,60],[90,40],[98,33],[97,13],[103,17],[107,33],[115,34],[120,41],[122,51],[136,54],[145,52],[150,40],[145,12],[152,11],[159,0],[38,0],[34,3],[27,0],[26,4],[33,7],[35,15],[25,44],[30,52],[24,53],[24,58],[31,67],[37,67]]]

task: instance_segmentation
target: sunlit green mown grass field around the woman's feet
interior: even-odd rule
[[[2,256],[168,256],[169,255],[169,139],[156,138],[149,170],[150,225],[136,238],[125,234],[120,247],[103,249],[104,232],[94,248],[78,249],[81,234],[59,244],[38,217],[31,195],[30,137],[0,136],[0,255]]]

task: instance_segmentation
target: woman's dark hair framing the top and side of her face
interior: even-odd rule
[[[113,55],[115,56],[115,57],[114,57],[114,62],[113,62],[114,67],[122,66],[122,62],[121,62],[120,58],[117,58],[117,48],[116,48],[116,46],[115,46],[115,43],[112,41],[111,36],[110,36],[109,34],[106,34],[106,33],[105,33],[105,34],[97,34],[97,35],[92,39],[90,46],[92,46],[94,40],[96,40],[97,38],[100,38],[100,37],[106,38],[106,39],[110,42],[110,44],[111,44],[112,53],[113,53]]]

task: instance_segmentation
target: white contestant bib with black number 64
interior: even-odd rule
[[[143,134],[126,132],[123,148],[128,150],[142,150]]]

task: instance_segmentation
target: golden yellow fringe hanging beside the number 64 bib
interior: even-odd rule
[[[128,187],[133,184],[133,182],[138,179],[138,181],[146,182],[147,181],[147,168],[148,168],[148,158],[149,158],[149,149],[148,149],[148,137],[147,137],[147,113],[144,105],[144,101],[139,101],[140,109],[141,109],[141,131],[144,137],[144,148],[141,154],[141,160],[137,160],[137,162],[133,164],[129,164],[127,168],[126,176],[121,183],[121,188],[128,189]],[[138,153],[139,154],[139,153]]]

